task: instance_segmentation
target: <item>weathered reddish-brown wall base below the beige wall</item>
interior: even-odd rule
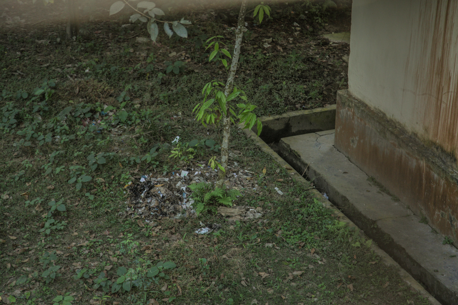
[[[335,147],[458,245],[456,160],[357,100],[337,94]]]

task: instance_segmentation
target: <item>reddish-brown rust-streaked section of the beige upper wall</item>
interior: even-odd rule
[[[457,157],[458,1],[421,1],[418,18],[412,21],[406,61],[409,76],[412,83],[407,79],[404,88],[410,87],[423,126],[417,134]],[[422,117],[420,107],[425,109]]]

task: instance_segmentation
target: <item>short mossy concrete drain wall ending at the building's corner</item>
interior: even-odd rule
[[[261,139],[266,143],[278,142],[284,137],[334,129],[336,105],[266,116],[261,121]],[[252,130],[257,134],[256,125]]]

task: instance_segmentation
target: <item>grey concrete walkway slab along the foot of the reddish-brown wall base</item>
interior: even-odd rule
[[[280,141],[280,155],[443,305],[458,304],[458,251],[333,146],[334,131]],[[387,192],[387,191],[386,191]]]

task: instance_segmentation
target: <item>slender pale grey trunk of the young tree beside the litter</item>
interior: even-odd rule
[[[235,47],[234,54],[232,55],[232,63],[229,70],[229,77],[226,82],[226,88],[224,89],[224,95],[228,96],[234,88],[235,72],[237,71],[237,64],[239,63],[240,47],[242,44],[243,32],[245,30],[245,13],[246,13],[246,0],[242,0],[240,6],[239,21],[237,29],[235,30]],[[221,145],[221,166],[227,168],[229,161],[229,137],[230,137],[230,112],[229,102],[226,103],[226,115],[223,114],[223,141]],[[222,188],[224,186],[224,180],[226,173],[224,171],[218,171],[218,180],[216,181],[216,187]]]

